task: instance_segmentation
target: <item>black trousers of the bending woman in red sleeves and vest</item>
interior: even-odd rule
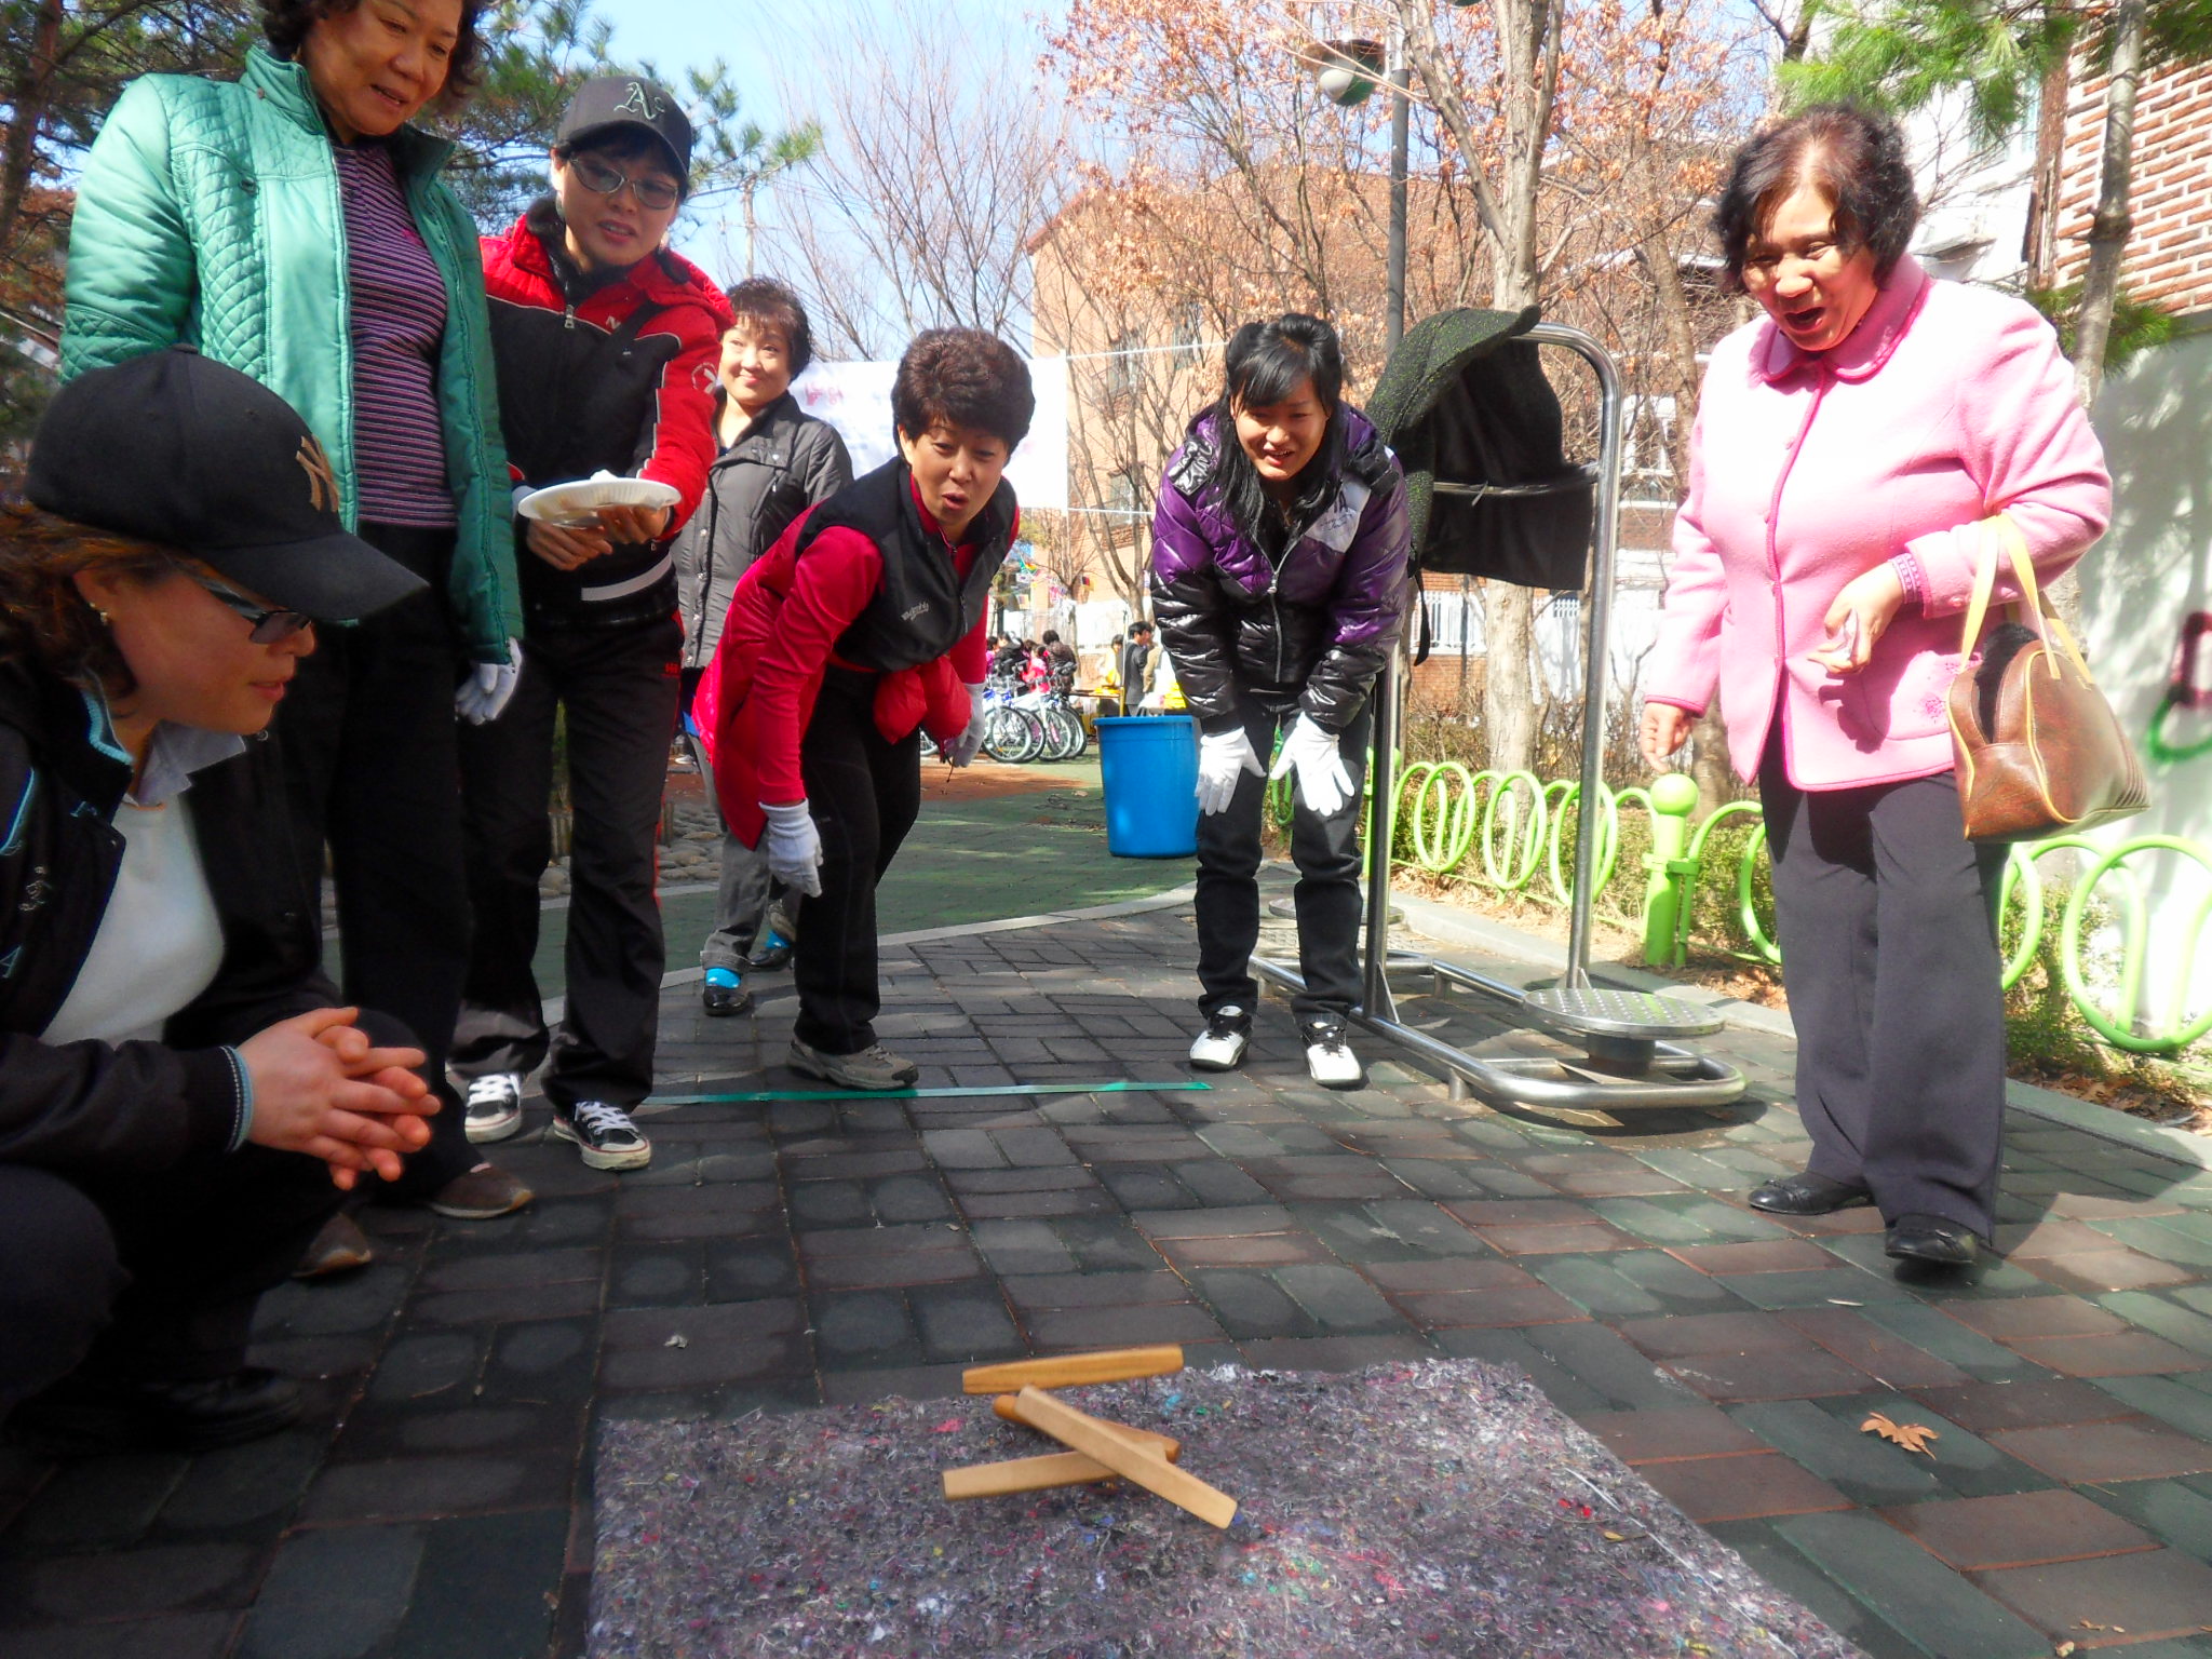
[[[922,743],[876,730],[876,675],[832,668],[799,743],[823,838],[823,889],[799,902],[794,1035],[830,1055],[876,1042],[876,883],[922,812]]]

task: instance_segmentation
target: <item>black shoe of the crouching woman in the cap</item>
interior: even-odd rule
[[[296,1420],[299,1383],[248,1365],[188,1383],[64,1378],[15,1407],[9,1427],[62,1451],[208,1451]]]

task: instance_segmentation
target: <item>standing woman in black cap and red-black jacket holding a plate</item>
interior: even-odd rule
[[[630,1113],[653,1093],[668,967],[655,856],[681,699],[672,542],[714,460],[708,387],[730,323],[712,279],[666,246],[690,153],[666,86],[593,75],[562,113],[553,190],[482,243],[518,491],[608,473],[675,495],[584,522],[515,520],[522,684],[504,719],[460,737],[476,936],[453,1073],[469,1082],[469,1135],[513,1135],[522,1079],[542,1064],[553,1139],[595,1170],[653,1161]],[[566,998],[549,1031],[533,962],[555,721],[573,836]]]

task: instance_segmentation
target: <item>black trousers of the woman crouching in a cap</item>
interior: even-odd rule
[[[80,1367],[199,1380],[338,1208],[325,1166],[246,1146],[133,1179],[0,1164],[0,1418]]]

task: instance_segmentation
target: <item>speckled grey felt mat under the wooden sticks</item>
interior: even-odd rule
[[[1130,1484],[951,1504],[1060,1451],[989,1398],[611,1422],[593,1659],[1847,1659],[1511,1367],[1221,1367],[1066,1389],[1241,1500]]]

